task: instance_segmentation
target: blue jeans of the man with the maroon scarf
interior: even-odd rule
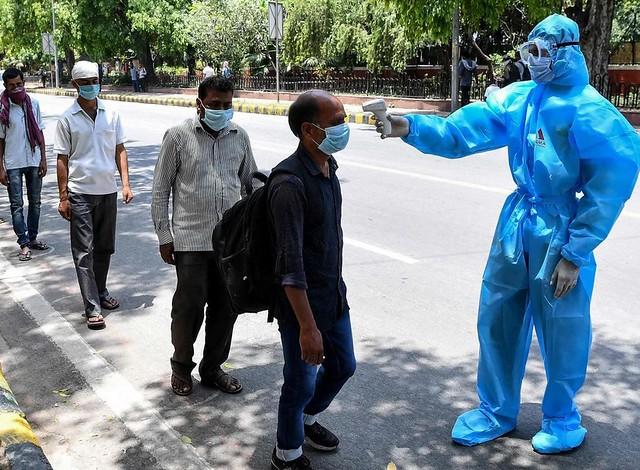
[[[27,199],[29,200],[29,213],[27,223],[24,221],[24,199],[22,197],[22,176],[27,183]],[[38,225],[40,224],[40,192],[42,191],[42,178],[38,175],[38,167],[16,168],[7,170],[9,184],[9,203],[11,204],[11,219],[13,231],[18,236],[18,245],[22,248],[38,238]]]

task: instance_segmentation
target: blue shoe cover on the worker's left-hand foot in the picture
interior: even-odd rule
[[[501,424],[496,416],[482,409],[458,416],[451,430],[451,439],[463,446],[475,446],[492,441],[515,429],[515,424]]]

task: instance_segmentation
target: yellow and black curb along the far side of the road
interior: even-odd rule
[[[77,96],[75,90],[60,90],[52,88],[33,88],[30,93],[39,93],[42,95],[52,96]],[[127,103],[143,103],[143,104],[159,104],[164,106],[184,106],[195,107],[193,97],[190,98],[162,98],[160,96],[144,96],[134,93],[101,93],[100,98],[111,101],[124,101]],[[288,116],[289,106],[282,104],[252,104],[235,102],[233,104],[234,111],[239,113],[266,114],[269,116]],[[375,126],[376,120],[372,113],[351,113],[347,114],[346,122],[352,124],[370,124]]]

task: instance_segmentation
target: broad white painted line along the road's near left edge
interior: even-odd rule
[[[211,470],[212,467],[195,448],[184,444],[153,405],[100,356],[2,255],[0,272],[3,273],[0,280],[9,288],[13,299],[38,324],[38,330],[60,348],[98,398],[140,439],[162,468]]]

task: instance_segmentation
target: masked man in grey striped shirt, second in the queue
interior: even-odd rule
[[[221,365],[229,356],[231,313],[213,257],[212,235],[224,211],[246,194],[257,171],[247,133],[231,122],[233,84],[211,77],[198,88],[198,114],[167,131],[153,180],[151,213],[163,261],[176,266],[171,310],[171,387],[193,389],[193,344],[204,320],[201,383],[226,393],[242,390]],[[169,222],[169,197],[173,212]]]

